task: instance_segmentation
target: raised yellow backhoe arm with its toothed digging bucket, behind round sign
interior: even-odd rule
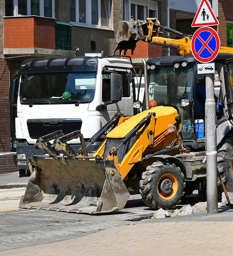
[[[180,37],[180,39],[160,37],[160,28]],[[153,29],[155,29],[155,36],[152,36]],[[192,55],[191,39],[192,35],[187,35],[174,29],[161,26],[156,18],[147,18],[146,20],[138,21],[120,21],[116,28],[116,48],[114,53],[116,50],[120,50],[120,52],[124,51],[124,54],[126,54],[126,51],[130,49],[133,54],[136,43],[141,40],[151,44],[176,48],[180,55]],[[221,46],[219,52],[233,53],[233,48]]]

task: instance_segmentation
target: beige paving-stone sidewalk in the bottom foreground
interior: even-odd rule
[[[233,253],[232,221],[137,223],[50,244],[0,252],[8,255],[227,256]]]

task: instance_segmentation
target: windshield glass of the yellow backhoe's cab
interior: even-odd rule
[[[158,105],[176,105],[181,107],[181,99],[191,100],[194,65],[156,66],[148,70],[149,100],[156,100]]]

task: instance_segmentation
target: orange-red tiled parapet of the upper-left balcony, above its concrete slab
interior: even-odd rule
[[[32,16],[4,18],[4,48],[55,49],[55,20]]]

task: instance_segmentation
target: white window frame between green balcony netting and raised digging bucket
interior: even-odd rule
[[[98,25],[91,24],[91,0],[86,0],[86,23],[79,23],[79,8],[78,8],[78,0],[76,0],[76,22],[70,21],[71,24],[81,26],[81,27],[89,27],[89,28],[104,28],[110,29],[110,1],[108,1],[108,26],[101,25],[101,0],[98,0]]]

